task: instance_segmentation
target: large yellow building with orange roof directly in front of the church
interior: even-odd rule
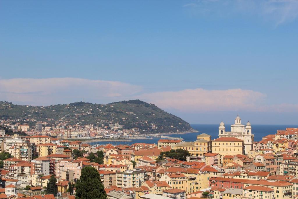
[[[243,154],[243,140],[233,137],[222,137],[212,141],[212,153],[220,155]]]

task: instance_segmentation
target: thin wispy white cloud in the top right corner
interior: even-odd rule
[[[298,17],[297,0],[196,0],[183,7],[195,7],[197,13],[230,16],[230,13],[258,16],[276,26],[294,21]],[[206,10],[208,12],[206,12]],[[192,9],[193,13],[194,10]]]

